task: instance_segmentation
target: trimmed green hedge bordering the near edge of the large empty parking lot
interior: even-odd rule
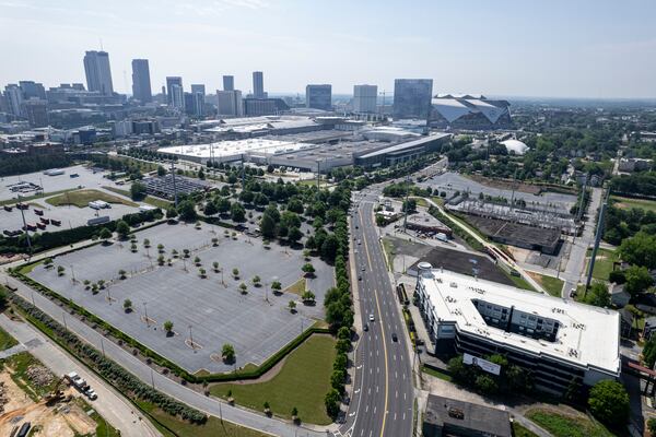
[[[257,378],[261,377],[263,374],[266,374],[268,370],[270,370],[276,364],[278,364],[278,362],[280,362],[285,355],[288,355],[294,349],[296,349],[301,343],[303,343],[305,340],[307,340],[307,338],[309,338],[309,335],[312,335],[314,333],[329,333],[330,332],[328,329],[325,329],[325,328],[313,327],[313,328],[304,331],[302,335],[297,336],[292,342],[288,343],[284,347],[282,347],[276,354],[271,355],[266,362],[263,362],[260,366],[258,366],[257,368],[255,368],[253,370],[242,370],[242,371],[230,373],[230,374],[212,374],[212,375],[196,376],[196,375],[189,374],[184,368],[179,367],[175,363],[173,363],[169,359],[157,354],[156,352],[149,349],[144,344],[138,342],[137,340],[134,340],[130,335],[126,334],[125,332],[116,329],[114,326],[112,326],[108,322],[106,322],[105,320],[101,319],[93,312],[90,312],[84,307],[81,307],[80,305],[75,304],[73,300],[71,300],[65,296],[61,296],[60,294],[54,292],[52,290],[48,288],[47,286],[34,281],[32,277],[26,276],[25,274],[21,273],[17,269],[10,271],[10,274],[12,276],[21,280],[23,283],[31,286],[32,288],[37,290],[42,294],[57,298],[58,300],[60,300],[61,303],[67,305],[69,308],[74,310],[78,315],[84,317],[90,322],[95,323],[103,330],[109,332],[109,334],[112,336],[114,336],[118,340],[121,340],[122,342],[128,344],[130,347],[137,349],[143,356],[151,358],[153,361],[153,363],[155,363],[160,367],[165,367],[165,368],[169,369],[174,375],[176,375],[176,376],[183,378],[184,380],[186,380],[187,382],[191,382],[191,383],[218,382],[218,381],[224,382],[224,381],[235,381],[235,380],[241,380],[241,379],[257,379]]]

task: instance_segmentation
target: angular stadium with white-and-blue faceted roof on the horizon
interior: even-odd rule
[[[512,127],[511,104],[483,95],[437,94],[431,101],[429,125],[440,129],[493,130]]]

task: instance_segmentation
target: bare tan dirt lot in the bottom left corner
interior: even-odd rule
[[[14,426],[25,422],[32,424],[31,436],[74,437],[95,432],[95,422],[73,401],[46,405],[45,400],[35,403],[11,379],[8,371],[0,373],[0,387],[3,387],[4,413],[0,415],[0,435],[9,436]],[[66,394],[72,394],[68,389]]]

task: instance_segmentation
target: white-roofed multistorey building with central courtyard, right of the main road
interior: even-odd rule
[[[419,265],[419,307],[436,354],[503,354],[562,394],[620,376],[620,314]]]

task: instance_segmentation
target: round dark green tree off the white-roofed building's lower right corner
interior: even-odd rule
[[[629,393],[618,381],[606,379],[590,389],[588,406],[593,415],[611,427],[621,428],[629,420]]]

